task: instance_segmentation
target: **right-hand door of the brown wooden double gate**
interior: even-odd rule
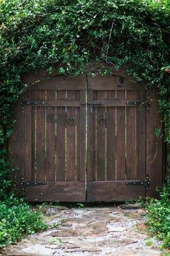
[[[145,196],[148,186],[146,92],[119,83],[116,76],[88,77],[89,201]]]

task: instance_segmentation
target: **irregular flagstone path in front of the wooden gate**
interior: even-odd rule
[[[129,209],[130,208],[130,209]],[[135,208],[135,209],[134,209]],[[3,256],[157,256],[159,242],[144,226],[143,209],[125,205],[112,207],[45,206],[50,225],[58,227],[26,237],[10,246]]]

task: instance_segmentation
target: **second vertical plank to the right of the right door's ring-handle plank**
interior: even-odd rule
[[[117,91],[116,99],[125,99],[125,91]],[[125,107],[116,107],[116,179],[125,174]]]

